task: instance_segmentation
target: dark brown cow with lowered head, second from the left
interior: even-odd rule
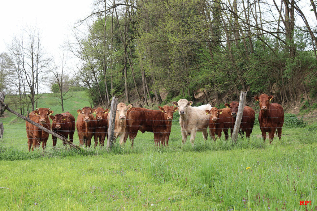
[[[65,112],[62,114],[56,114],[55,116],[50,115],[49,118],[51,118],[52,121],[52,130],[64,137],[65,139],[68,139],[69,135],[69,141],[73,143],[74,140],[74,132],[75,132],[75,118],[73,115],[71,115],[69,112]],[[56,146],[56,137],[52,135],[53,139],[53,147]],[[63,145],[66,146],[66,142],[63,141]]]

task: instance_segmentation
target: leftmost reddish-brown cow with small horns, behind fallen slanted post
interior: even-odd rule
[[[50,108],[49,108],[50,109]],[[51,129],[51,122],[49,121],[49,115],[53,114],[54,111],[50,111],[47,108],[40,108],[36,109],[35,111],[32,111],[29,113],[29,118],[42,125],[43,127],[47,129]],[[29,151],[31,150],[32,146],[32,151],[35,148],[40,148],[40,143],[42,141],[42,148],[45,149],[46,147],[46,142],[47,139],[49,138],[49,133],[46,133],[36,127],[35,125],[32,125],[31,123],[25,121],[26,125],[26,134],[28,137],[28,146],[29,146]]]

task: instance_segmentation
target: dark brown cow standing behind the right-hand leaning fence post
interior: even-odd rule
[[[236,101],[233,101],[230,104],[226,103],[224,105],[227,108],[230,108],[232,122],[236,122],[236,115],[238,113],[239,103]],[[240,124],[240,130],[239,130],[239,133],[240,133],[242,138],[243,138],[244,132],[245,132],[245,137],[250,138],[255,119],[256,118],[255,118],[254,110],[249,106],[244,106],[242,120],[241,120],[241,124]],[[234,126],[234,124],[232,125],[232,128],[230,130],[231,136],[232,136],[233,126]]]

